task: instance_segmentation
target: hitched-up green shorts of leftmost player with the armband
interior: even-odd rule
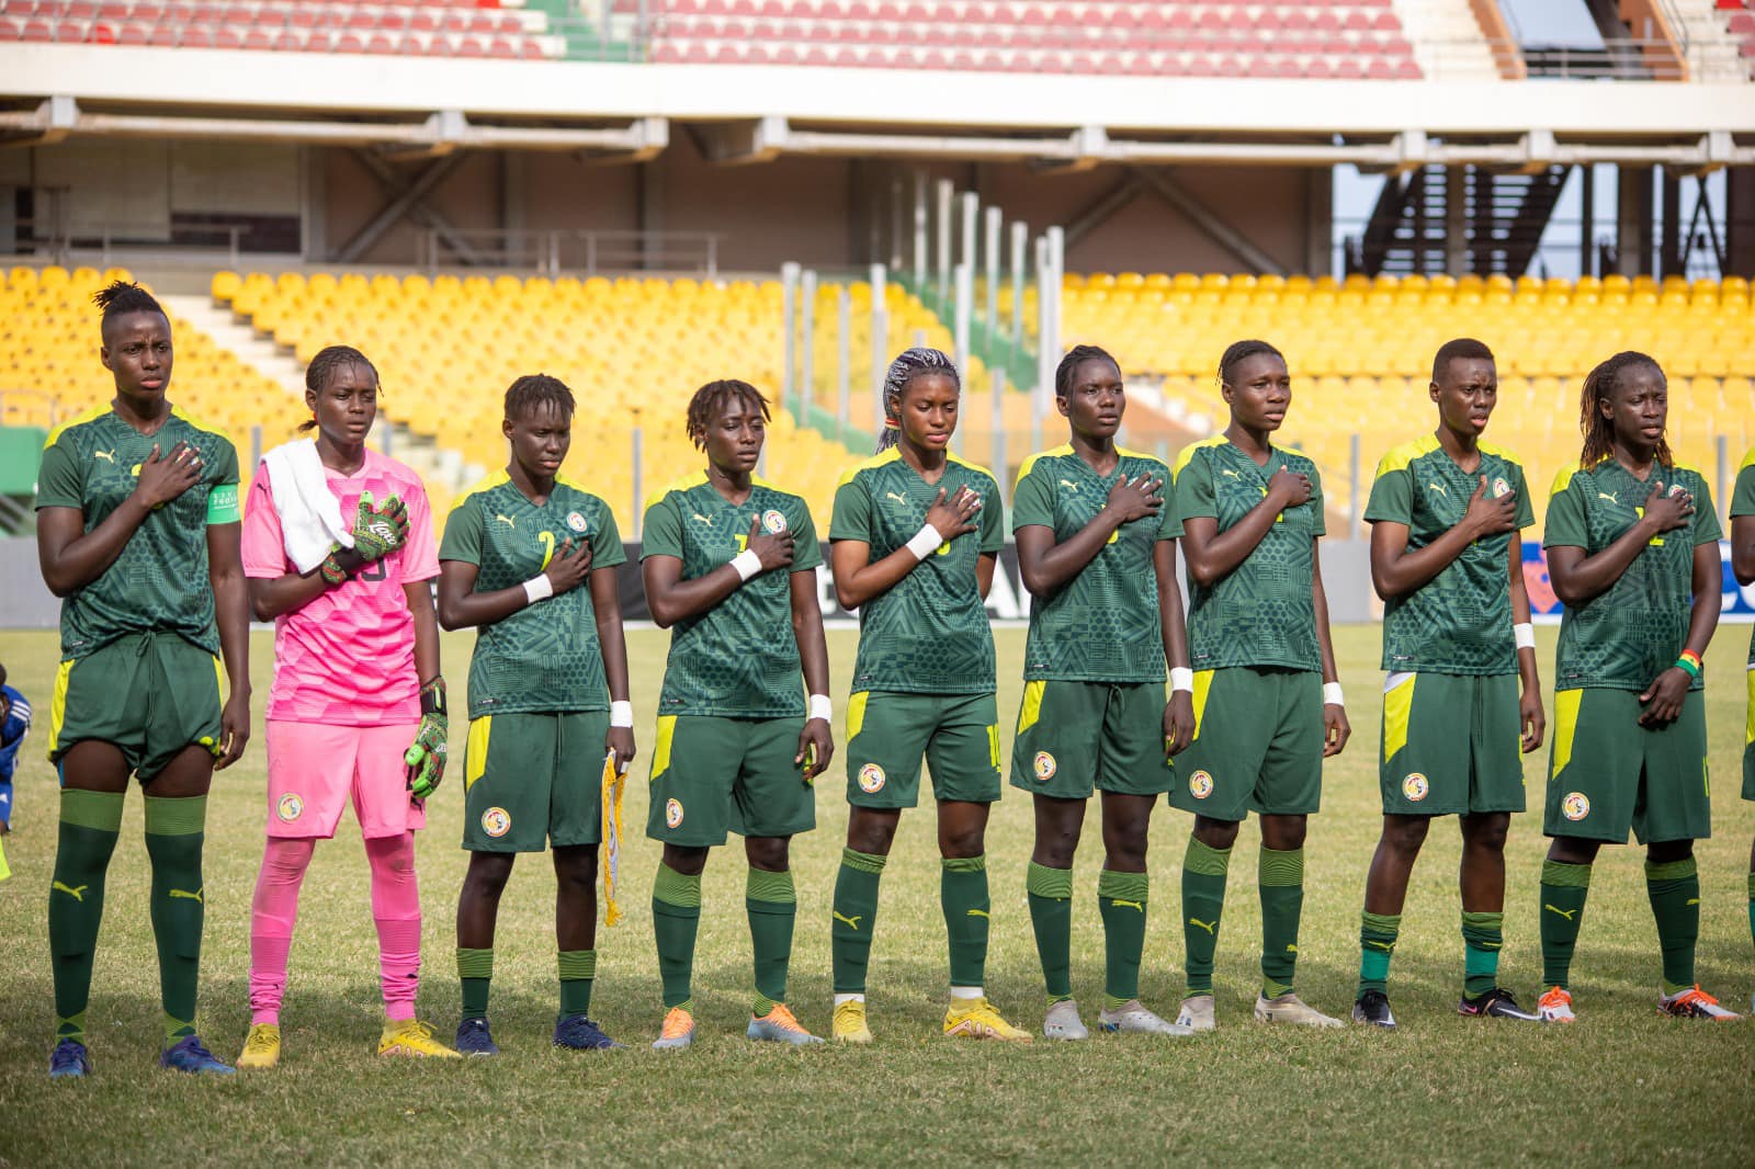
[[[223,676],[219,658],[168,632],[128,634],[61,662],[49,707],[49,762],[98,739],[121,749],[128,771],[149,783],[188,746],[218,757]]]

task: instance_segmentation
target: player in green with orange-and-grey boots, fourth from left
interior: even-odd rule
[[[797,893],[788,850],[816,827],[828,734],[828,644],[816,602],[816,527],[804,500],[755,477],[769,404],[744,381],[714,381],[688,404],[688,437],[707,469],[646,506],[641,570],[646,604],[670,628],[658,699],[651,813],[663,843],[653,930],[663,978],[655,1048],[695,1037],[695,929],[707,850],[744,837],[744,906],[755,950],[748,1036],[821,1043],[786,1008]],[[788,637],[786,627],[792,627]],[[799,692],[804,672],[809,709]]]

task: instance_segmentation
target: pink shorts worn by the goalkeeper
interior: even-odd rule
[[[402,767],[418,730],[269,720],[269,836],[326,841],[349,795],[369,839],[425,828]]]

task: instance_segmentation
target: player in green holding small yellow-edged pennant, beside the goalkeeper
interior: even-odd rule
[[[456,1050],[497,1055],[488,1029],[493,923],[516,853],[555,850],[560,1015],[555,1046],[621,1046],[588,1018],[597,976],[597,846],[605,751],[634,758],[628,649],[609,504],[560,474],[572,391],[530,374],[505,391],[512,458],[456,502],[439,546],[439,623],[479,627],[469,662]],[[588,584],[588,588],[579,588]]]

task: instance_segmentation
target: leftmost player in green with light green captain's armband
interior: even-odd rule
[[[104,369],[116,397],[56,427],[37,483],[42,579],[61,597],[49,760],[61,836],[49,885],[54,1053],[84,1076],[86,1000],[104,874],[128,776],[146,795],[151,916],[165,1009],[161,1067],[230,1072],[195,1036],[202,957],[202,832],[212,772],[249,739],[249,593],[239,563],[237,451],[165,398],[170,319],[116,281]],[[219,653],[230,695],[219,699]]]

